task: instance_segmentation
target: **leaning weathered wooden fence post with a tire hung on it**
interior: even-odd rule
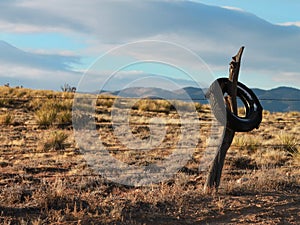
[[[225,98],[226,105],[229,109],[231,109],[231,112],[235,115],[238,114],[238,107],[237,107],[237,83],[238,83],[238,77],[239,77],[239,71],[240,71],[240,64],[242,59],[242,54],[244,51],[244,47],[241,47],[237,55],[232,57],[232,61],[230,63],[229,68],[229,80],[232,82],[231,90],[229,90],[228,96]],[[212,188],[218,189],[220,185],[220,179],[222,174],[222,169],[226,157],[227,150],[229,149],[233,137],[235,134],[235,131],[232,129],[229,129],[228,127],[225,128],[225,134],[223,138],[223,142],[212,162],[212,165],[209,170],[209,175],[207,177],[204,191],[209,193],[211,192]]]

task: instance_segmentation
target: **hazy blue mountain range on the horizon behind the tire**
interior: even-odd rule
[[[112,92],[113,95],[128,98],[162,98],[179,99],[188,101],[189,98],[195,102],[207,104],[205,89],[195,87],[185,87],[175,91],[161,88],[131,87],[121,91]],[[253,88],[254,93],[260,99],[264,110],[270,112],[300,111],[300,90],[290,87],[278,87],[271,90]],[[187,98],[186,94],[189,95]]]

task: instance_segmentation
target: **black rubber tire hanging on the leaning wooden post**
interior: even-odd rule
[[[216,119],[227,128],[237,132],[249,132],[258,128],[262,121],[263,108],[254,94],[246,85],[238,82],[237,97],[243,102],[245,117],[234,115],[225,105],[224,94],[230,94],[232,82],[228,78],[219,78],[207,91],[212,112]]]

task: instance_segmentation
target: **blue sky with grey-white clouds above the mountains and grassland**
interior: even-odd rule
[[[157,87],[159,75],[202,87],[245,46],[241,82],[300,88],[299,11],[298,0],[0,1],[0,85]]]

